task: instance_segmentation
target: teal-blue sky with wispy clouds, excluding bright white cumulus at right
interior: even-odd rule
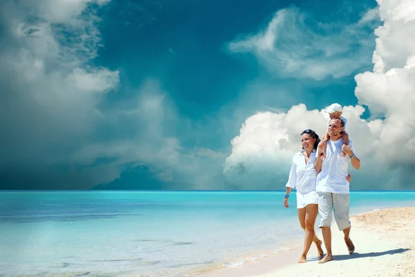
[[[355,95],[374,68],[376,7],[5,1],[2,187],[282,189],[286,162],[277,183],[230,181],[231,140],[250,116],[299,104],[384,118]]]

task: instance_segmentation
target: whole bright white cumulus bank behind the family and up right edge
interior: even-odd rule
[[[408,11],[415,10],[415,2],[378,0],[378,4],[383,24],[375,30],[374,71],[356,75],[360,105],[344,107],[350,139],[362,161],[359,171],[351,170],[355,177],[351,186],[414,188],[415,17]],[[385,119],[362,120],[361,105]],[[324,134],[327,119],[324,108],[308,111],[303,104],[286,113],[250,116],[232,140],[224,175],[242,187],[281,189],[300,147],[299,134],[308,128]]]

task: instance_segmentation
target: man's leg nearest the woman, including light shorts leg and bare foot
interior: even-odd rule
[[[333,194],[319,193],[318,194],[318,212],[320,213],[321,221],[319,227],[322,229],[324,246],[326,247],[327,255],[319,260],[319,263],[329,262],[333,260],[331,253],[331,210],[333,209]]]

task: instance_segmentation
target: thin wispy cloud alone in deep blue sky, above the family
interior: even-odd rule
[[[312,23],[311,23],[312,22]],[[350,25],[322,24],[298,8],[275,12],[265,30],[228,44],[233,53],[252,53],[271,72],[295,78],[340,78],[370,63],[377,9]]]

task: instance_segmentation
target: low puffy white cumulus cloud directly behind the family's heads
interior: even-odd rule
[[[360,116],[361,106],[344,107],[349,120],[350,139],[356,141],[360,159],[371,159],[377,149],[381,122],[367,123]],[[293,154],[301,150],[300,136],[304,129],[314,129],[322,136],[328,116],[318,110],[308,111],[304,104],[286,113],[262,112],[250,116],[241,127],[239,136],[232,139],[232,154],[226,159],[223,173],[228,181],[241,188],[273,188],[286,182]]]

